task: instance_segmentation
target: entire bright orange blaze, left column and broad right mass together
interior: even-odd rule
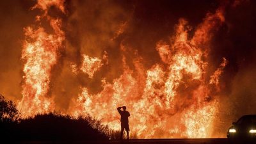
[[[52,68],[58,63],[58,52],[63,47],[65,33],[61,30],[61,19],[47,15],[51,6],[65,13],[64,1],[38,1],[34,8],[40,8],[44,15],[37,20],[47,19],[53,34],[45,32],[41,26],[24,29],[26,40],[22,50],[24,60],[24,83],[19,109],[22,116],[54,111],[54,100],[49,97]],[[207,52],[214,31],[225,21],[223,8],[215,13],[207,13],[203,22],[189,38],[189,22],[180,19],[175,26],[175,34],[170,41],[160,40],[156,52],[161,58],[149,69],[137,56],[132,61],[132,70],[125,55],[122,56],[123,74],[112,82],[101,77],[102,91],[91,94],[88,87],[81,87],[65,112],[67,115],[91,115],[111,129],[119,130],[118,106],[127,106],[131,133],[138,138],[209,138],[212,134],[214,118],[218,113],[218,99],[214,95],[220,91],[219,79],[227,61],[223,58],[220,67],[207,76]],[[124,26],[122,26],[124,27]],[[120,29],[118,29],[120,31]],[[124,30],[123,30],[124,31]],[[121,32],[120,32],[121,33]],[[120,45],[120,51],[126,47]],[[81,67],[70,65],[70,71],[78,71],[93,79],[95,72],[108,65],[108,53],[103,58],[81,54]],[[104,110],[102,110],[104,109]]]

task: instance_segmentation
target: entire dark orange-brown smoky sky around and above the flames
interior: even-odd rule
[[[16,0],[0,3],[0,93],[8,99],[20,100],[22,67],[20,60],[24,28],[35,26],[40,10],[31,10],[36,1]],[[211,40],[209,65],[214,70],[221,58],[228,61],[221,75],[220,108],[226,122],[241,115],[256,113],[256,3],[255,1],[66,1],[66,14],[52,8],[49,15],[63,19],[65,42],[58,64],[52,70],[50,97],[59,109],[67,109],[72,97],[81,93],[81,86],[90,93],[102,90],[101,78],[111,83],[122,74],[122,54],[134,68],[132,58],[138,56],[145,68],[161,61],[156,51],[160,40],[170,41],[175,25],[184,18],[196,26],[207,13],[225,7],[225,22]],[[41,24],[47,27],[47,24]],[[122,29],[117,33],[118,29]],[[125,51],[120,49],[125,45]],[[74,75],[70,63],[81,65],[81,54],[102,58],[108,53],[108,65],[102,66],[90,79],[86,74]],[[65,78],[64,78],[65,77]],[[233,116],[230,116],[233,115]],[[225,123],[227,124],[227,123]]]

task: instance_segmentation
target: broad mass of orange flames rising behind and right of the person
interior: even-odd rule
[[[82,88],[70,113],[92,115],[118,130],[119,116],[114,109],[125,105],[131,113],[132,132],[139,138],[210,137],[218,101],[210,99],[211,85],[206,82],[205,74],[208,63],[203,59],[207,56],[211,32],[223,21],[221,8],[214,14],[209,13],[188,40],[188,22],[180,19],[173,42],[161,41],[156,46],[163,63],[145,70],[140,59],[134,60],[134,72],[124,57],[122,76],[113,83],[102,79],[103,90],[94,95],[88,88]]]

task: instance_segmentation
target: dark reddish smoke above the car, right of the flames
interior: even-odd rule
[[[225,25],[216,33],[212,44],[212,65],[221,56],[228,65],[221,76],[220,113],[216,120],[216,135],[225,134],[232,122],[246,114],[255,114],[255,1],[240,2],[228,7]]]

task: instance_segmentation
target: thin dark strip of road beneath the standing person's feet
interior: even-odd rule
[[[135,140],[109,140],[109,141],[20,141],[28,144],[228,144],[225,138],[218,139],[135,139]]]

